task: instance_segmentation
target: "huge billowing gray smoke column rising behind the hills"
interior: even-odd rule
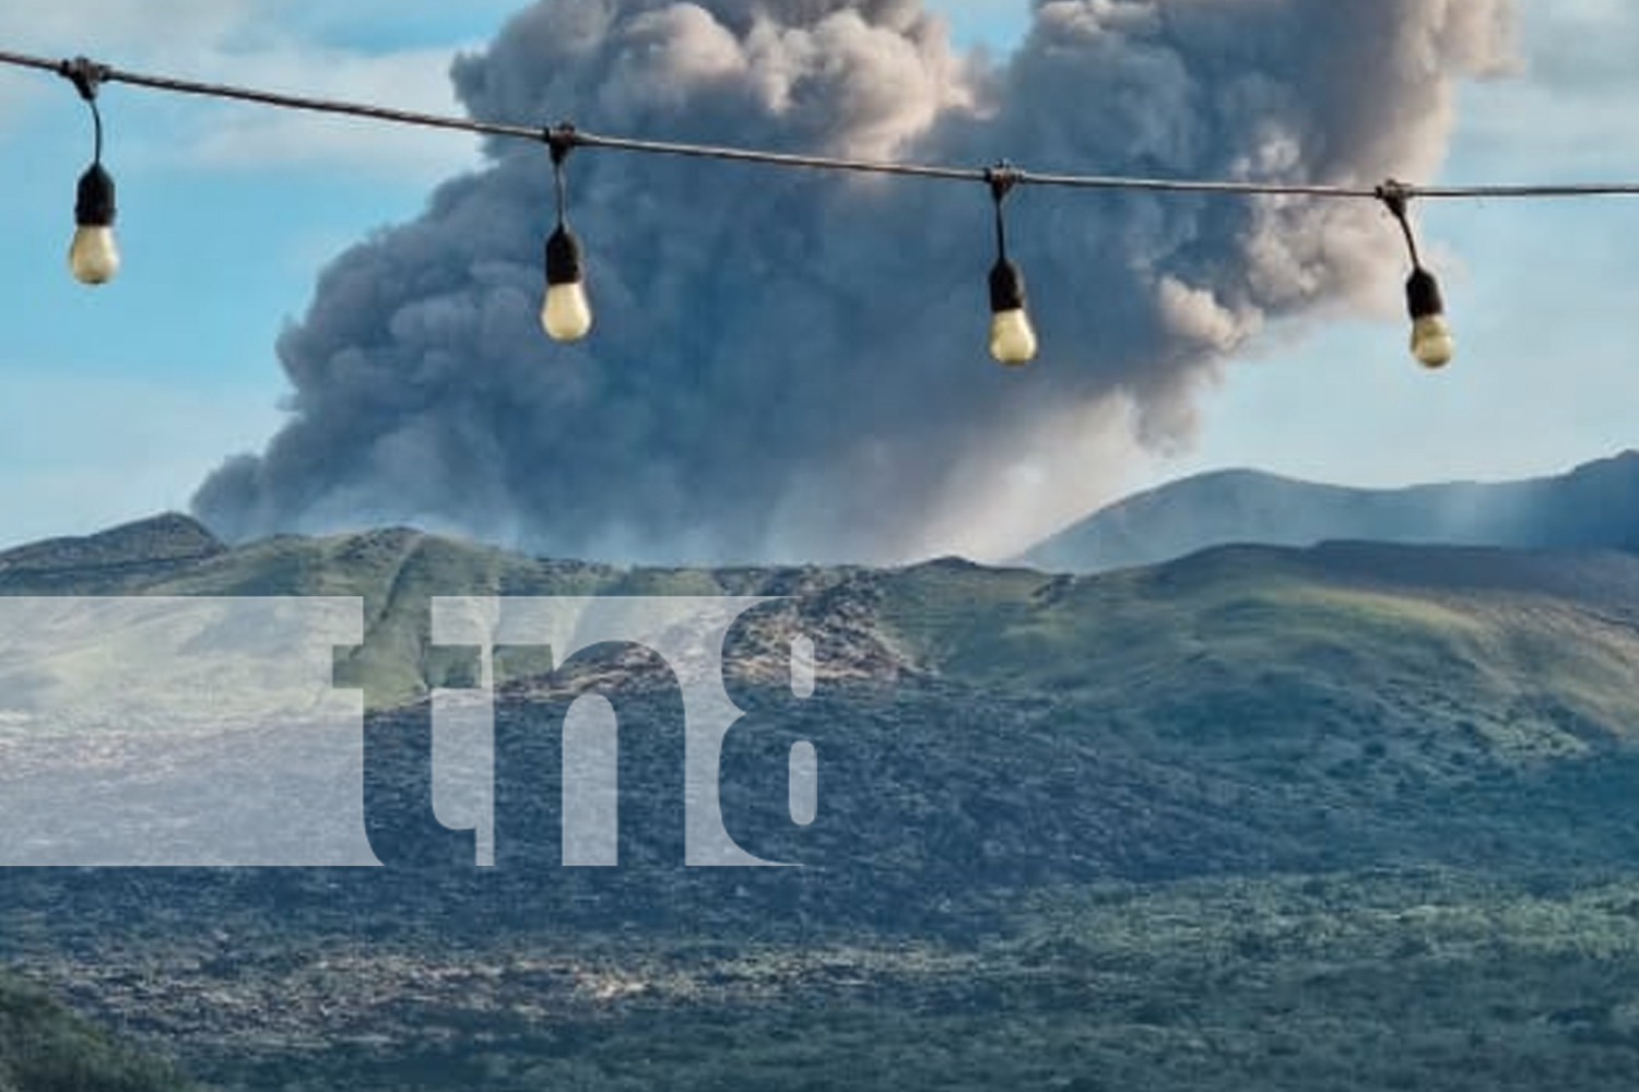
[[[544,0],[454,80],[479,118],[631,136],[1370,185],[1432,174],[1455,80],[1506,61],[1508,16],[1052,0],[988,61],[918,0]],[[1087,460],[1134,427],[1187,439],[1195,388],[1267,324],[1385,311],[1403,277],[1370,203],[1024,188],[1042,355],[1005,372],[983,187],[585,149],[570,219],[598,324],[564,349],[536,318],[546,151],[488,156],[325,272],[279,342],[288,424],[195,498],[218,532],[395,521],[621,560],[1018,545],[1101,499]]]

